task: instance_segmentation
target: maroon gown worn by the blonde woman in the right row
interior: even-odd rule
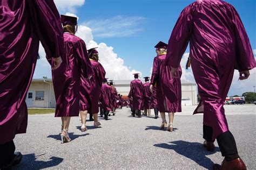
[[[181,82],[173,78],[171,67],[165,66],[166,55],[154,58],[151,84],[157,87],[157,105],[159,112],[181,112]],[[181,76],[181,67],[179,73]]]

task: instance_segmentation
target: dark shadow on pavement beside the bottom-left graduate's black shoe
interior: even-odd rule
[[[42,155],[44,155],[44,154],[42,154]],[[51,157],[49,159],[49,161],[36,160],[38,157],[40,157],[42,155],[36,156],[35,153],[25,154],[22,156],[21,164],[19,164],[18,166],[14,167],[12,169],[50,168],[50,167],[59,165],[63,161],[63,158],[58,158],[58,157]]]

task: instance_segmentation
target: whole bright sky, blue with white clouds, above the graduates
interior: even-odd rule
[[[131,79],[131,73],[137,71],[143,76],[151,76],[150,70],[153,58],[156,56],[154,45],[159,40],[164,42],[169,40],[181,10],[194,2],[192,0],[54,1],[60,14],[70,12],[79,17],[78,24],[84,27],[79,27],[78,36],[83,37],[87,47],[97,45],[99,50],[102,49],[102,52],[99,51],[99,56],[102,56],[102,64],[109,73],[107,76],[113,76],[116,79],[127,79],[127,77]],[[256,49],[256,1],[229,0],[226,2],[231,3],[239,12],[252,49]],[[101,42],[104,43],[100,44]],[[254,51],[256,53],[256,50]],[[187,48],[186,56],[188,52]],[[112,63],[107,61],[108,59]],[[185,61],[186,59],[181,61],[183,67],[185,67]],[[118,65],[123,67],[117,69]],[[46,64],[37,66],[35,78],[42,78],[42,75],[51,77],[49,66],[47,69],[41,68],[45,66]],[[183,76],[184,80],[194,81],[191,69],[186,71],[184,69]],[[235,72],[228,95],[241,95],[245,91],[253,91],[252,86],[256,86],[255,78],[255,69],[252,71],[250,80],[242,82],[237,81],[238,72]]]

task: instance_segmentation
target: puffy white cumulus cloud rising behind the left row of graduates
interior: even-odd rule
[[[75,16],[72,13],[66,13],[66,15]],[[131,80],[133,79],[133,73],[140,73],[142,75],[138,70],[125,66],[124,60],[114,53],[113,47],[109,47],[103,42],[98,44],[94,41],[90,27],[79,25],[76,35],[85,41],[87,49],[98,47],[100,63],[102,63],[106,70],[106,77],[113,80]],[[34,78],[42,78],[43,76],[50,78],[51,68],[45,58],[45,52],[42,46],[39,48],[39,54],[42,58],[38,60]]]

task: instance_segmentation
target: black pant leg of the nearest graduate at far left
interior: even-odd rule
[[[12,159],[14,159],[14,152],[14,140],[8,141],[8,143],[0,145],[0,168],[3,165],[8,164]]]

